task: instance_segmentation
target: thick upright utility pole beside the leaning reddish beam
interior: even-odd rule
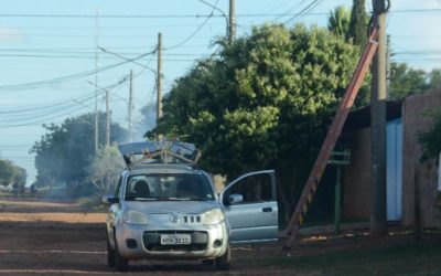
[[[374,0],[375,24],[379,28],[378,50],[373,64],[370,98],[372,181],[370,235],[386,233],[386,3]]]

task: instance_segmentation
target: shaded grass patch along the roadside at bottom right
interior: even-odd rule
[[[354,243],[355,245],[356,243]],[[310,245],[308,247],[311,248]],[[381,247],[345,248],[313,256],[271,256],[248,259],[255,266],[276,266],[292,273],[319,275],[441,275],[441,242],[402,241]],[[323,248],[323,247],[322,247]],[[298,247],[297,251],[302,251]],[[322,251],[323,252],[323,251]]]

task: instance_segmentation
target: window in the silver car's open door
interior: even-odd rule
[[[272,200],[271,178],[269,174],[249,176],[239,180],[224,193],[224,203],[230,194],[243,195],[240,204],[259,203]]]

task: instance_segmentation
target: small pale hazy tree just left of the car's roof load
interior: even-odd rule
[[[125,162],[118,148],[105,147],[89,166],[89,179],[100,192],[112,192],[123,168]]]

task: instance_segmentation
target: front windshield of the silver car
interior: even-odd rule
[[[214,200],[204,174],[149,173],[131,176],[127,181],[127,201],[205,201]]]

